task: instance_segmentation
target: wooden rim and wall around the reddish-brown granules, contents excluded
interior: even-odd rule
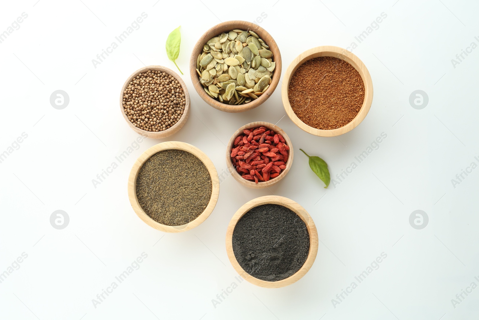
[[[295,73],[297,68],[305,61],[318,57],[335,57],[348,62],[354,67],[354,69],[359,72],[364,82],[365,95],[363,105],[361,106],[361,109],[359,110],[356,117],[354,117],[351,122],[341,128],[332,130],[321,130],[310,127],[297,117],[297,115],[293,111],[293,108],[289,104],[288,88],[289,82],[291,81],[293,74]],[[371,107],[371,103],[373,102],[373,82],[371,80],[371,76],[369,75],[369,71],[367,71],[367,68],[364,65],[363,61],[356,57],[351,51],[333,46],[315,47],[301,53],[299,56],[296,57],[296,59],[293,60],[293,62],[291,62],[288,69],[286,70],[285,76],[283,77],[281,96],[283,99],[283,106],[285,107],[286,114],[299,128],[317,136],[334,137],[353,130],[366,117],[369,108]]]

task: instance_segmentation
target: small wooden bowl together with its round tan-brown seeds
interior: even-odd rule
[[[190,95],[171,69],[148,66],[133,72],[122,87],[120,109],[128,125],[148,138],[161,139],[182,128],[190,113]]]

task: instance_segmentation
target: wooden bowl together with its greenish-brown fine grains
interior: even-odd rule
[[[187,231],[203,223],[218,194],[213,162],[185,142],[152,146],[138,157],[128,177],[133,210],[147,225],[164,232]]]

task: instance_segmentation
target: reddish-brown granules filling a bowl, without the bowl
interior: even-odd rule
[[[308,126],[332,130],[351,122],[363,105],[365,87],[359,72],[334,57],[313,58],[296,70],[289,83],[289,103]]]

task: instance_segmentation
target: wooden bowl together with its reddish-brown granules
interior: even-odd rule
[[[309,49],[291,62],[281,88],[288,117],[302,130],[323,137],[353,130],[373,101],[364,63],[333,46]]]

